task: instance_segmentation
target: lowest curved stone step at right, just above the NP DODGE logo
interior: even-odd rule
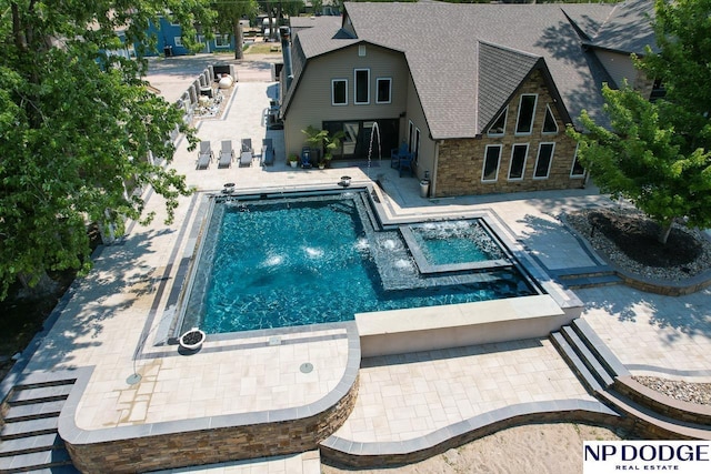
[[[697,425],[693,423],[680,422],[659,415],[645,406],[631,401],[630,399],[613,392],[601,392],[599,396],[609,405],[625,413],[635,420],[649,423],[655,426],[655,435],[663,440],[711,440],[711,427],[705,425]]]

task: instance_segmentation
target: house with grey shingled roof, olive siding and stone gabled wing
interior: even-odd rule
[[[404,142],[433,198],[579,188],[585,171],[565,128],[583,110],[605,120],[603,83],[651,93],[630,53],[653,43],[652,10],[649,0],[347,3],[339,26],[300,29],[288,49],[287,152],[313,125],[346,133],[344,160],[387,165]]]

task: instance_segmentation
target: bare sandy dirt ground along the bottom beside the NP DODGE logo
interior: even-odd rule
[[[379,470],[321,464],[323,474],[575,474],[582,473],[583,441],[620,440],[613,431],[574,423],[503,430],[420,463]]]

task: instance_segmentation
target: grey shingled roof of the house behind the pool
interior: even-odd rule
[[[604,121],[600,89],[612,81],[594,53],[581,44],[611,41],[617,26],[631,21],[624,8],[349,2],[340,31],[300,31],[294,41],[300,52],[293,57],[306,61],[358,42],[402,51],[435,140],[483,133],[521,80],[537,68],[560,97],[563,118],[574,121],[585,109]],[[297,69],[294,64],[294,82]],[[288,91],[287,107],[296,89]]]

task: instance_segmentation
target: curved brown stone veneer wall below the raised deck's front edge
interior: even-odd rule
[[[87,473],[137,473],[301,453],[318,447],[352,412],[359,380],[338,403],[320,413],[274,423],[177,431],[100,443],[69,443],[72,462]],[[318,403],[318,402],[317,402]],[[188,421],[189,422],[189,421]]]

